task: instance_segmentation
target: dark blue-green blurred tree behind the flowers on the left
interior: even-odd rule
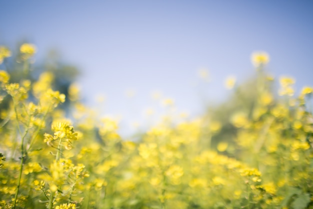
[[[2,49],[7,49],[2,47]],[[8,50],[8,49],[7,49]],[[22,52],[24,50],[24,52]],[[28,50],[28,51],[27,51]],[[65,63],[61,60],[57,51],[51,50],[47,53],[46,57],[35,64],[34,54],[36,47],[30,44],[20,43],[14,50],[15,53],[9,53],[9,56],[2,53],[3,63],[1,69],[5,70],[10,75],[10,82],[18,83],[21,80],[29,80],[34,82],[39,79],[39,76],[43,72],[51,73],[53,75],[51,87],[56,91],[68,96],[68,88],[79,75],[78,69]],[[0,52],[1,54],[1,52]],[[1,56],[1,55],[0,55]],[[29,92],[29,99],[33,98],[31,92]],[[8,105],[7,100],[0,104],[0,110],[6,109]],[[62,108],[67,108],[70,100],[66,100],[62,104]]]

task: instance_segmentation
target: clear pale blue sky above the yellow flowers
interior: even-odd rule
[[[0,11],[1,45],[28,40],[38,61],[57,49],[81,71],[84,101],[95,106],[104,95],[97,108],[121,116],[124,130],[160,108],[153,91],[174,99],[178,112],[200,114],[229,94],[227,76],[253,75],[253,51],[266,51],[268,71],[293,76],[297,90],[313,86],[311,0],[3,1]]]

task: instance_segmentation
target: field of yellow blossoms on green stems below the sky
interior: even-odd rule
[[[28,72],[36,49],[19,50]],[[9,57],[0,47],[0,64]],[[48,70],[35,80],[0,70],[0,208],[313,208],[313,89],[296,95],[268,61],[252,54],[253,85],[228,80],[225,104],[168,116],[136,141],[74,85],[56,91]]]

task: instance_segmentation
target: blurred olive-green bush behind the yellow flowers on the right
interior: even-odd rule
[[[231,121],[231,115],[244,115],[252,120],[255,111],[261,104],[269,107],[275,104],[274,79],[265,72],[264,67],[257,69],[256,74],[242,84],[231,86],[232,92],[225,102],[207,107],[204,115],[206,120],[218,121],[221,131],[212,138],[212,144],[216,146],[220,141],[234,143],[237,135],[237,127]],[[232,153],[228,153],[232,154]]]

